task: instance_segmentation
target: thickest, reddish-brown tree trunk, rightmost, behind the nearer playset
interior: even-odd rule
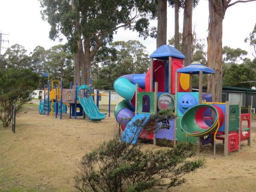
[[[225,15],[225,9],[220,9],[222,7],[220,0],[216,4],[209,1],[207,61],[208,67],[215,70],[215,78],[208,75],[207,93],[214,93],[214,102],[222,100],[222,22]]]

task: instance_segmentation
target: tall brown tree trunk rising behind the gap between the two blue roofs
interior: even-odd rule
[[[186,0],[184,7],[183,17],[183,34],[182,34],[182,53],[185,55],[184,66],[188,66],[191,63],[192,55],[192,12],[193,12],[193,0]]]

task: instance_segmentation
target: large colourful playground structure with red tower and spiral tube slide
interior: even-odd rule
[[[163,45],[151,55],[151,68],[146,74],[124,75],[116,79],[114,89],[124,98],[115,108],[115,118],[121,125],[121,140],[135,144],[139,138],[191,142],[201,145],[223,140],[224,156],[239,151],[240,142],[250,145],[250,114],[241,114],[241,106],[229,102],[212,102],[211,94],[202,94],[203,74],[215,71],[200,63],[184,67],[185,56],[173,47]],[[151,70],[153,69],[153,70]],[[199,75],[199,92],[192,92],[192,75]],[[214,87],[214,86],[213,86]],[[214,94],[214,92],[212,92]],[[166,119],[169,129],[152,133],[143,131],[152,114],[159,110],[174,110],[176,119]],[[144,120],[142,127],[137,120]],[[242,119],[248,124],[242,129]]]

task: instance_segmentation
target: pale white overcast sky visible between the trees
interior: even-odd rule
[[[232,1],[234,2],[234,1]],[[198,38],[206,39],[208,29],[208,1],[201,0],[193,11],[193,26]],[[182,31],[183,10],[180,11],[180,31]],[[244,42],[256,23],[256,2],[239,3],[227,9],[223,22],[223,46],[241,48],[252,57],[253,48]],[[153,20],[151,25],[157,26]],[[0,0],[0,31],[9,33],[3,35],[3,39],[9,40],[10,44],[4,43],[3,47],[20,44],[28,50],[33,51],[36,46],[45,49],[59,44],[59,41],[49,39],[50,26],[41,19],[38,0]],[[174,36],[174,9],[167,10],[167,39]],[[143,40],[136,32],[123,31],[120,29],[114,36],[114,40],[137,39],[146,46],[151,54],[156,49],[156,39],[147,38]],[[205,41],[206,44],[206,41]],[[206,44],[207,46],[207,44]],[[206,49],[206,48],[205,48]],[[2,49],[2,54],[5,49]]]

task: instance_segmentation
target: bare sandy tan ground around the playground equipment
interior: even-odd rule
[[[186,176],[187,183],[167,191],[256,191],[256,123],[252,143],[243,143],[241,152],[223,156],[217,145],[217,158],[211,146],[202,147],[197,157],[206,167]],[[76,164],[102,141],[115,136],[114,116],[101,122],[88,119],[51,119],[39,115],[35,107],[17,117],[16,133],[0,130],[0,191],[75,191]],[[141,144],[151,147],[150,144]]]

